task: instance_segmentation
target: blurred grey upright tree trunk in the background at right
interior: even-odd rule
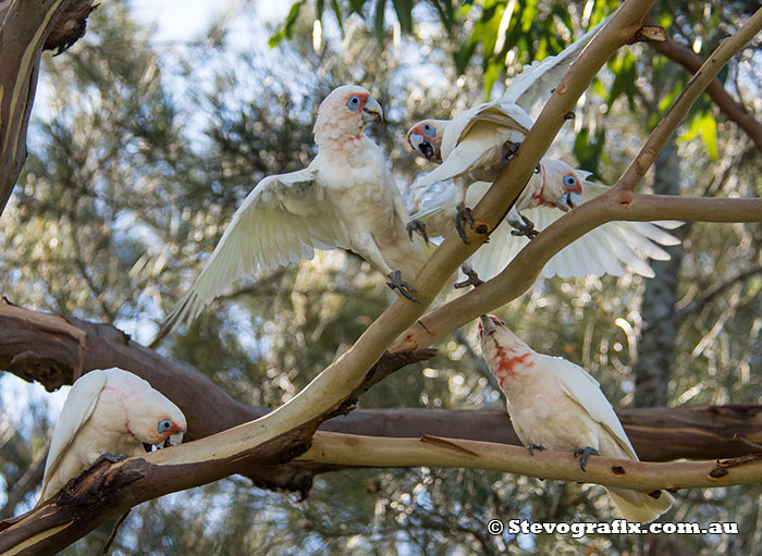
[[[654,163],[653,193],[678,195],[680,189],[680,159],[674,137],[664,146]],[[684,238],[683,227],[674,235]],[[668,261],[651,261],[655,276],[646,282],[641,314],[643,332],[638,342],[635,366],[635,406],[662,407],[667,405],[667,384],[672,356],[677,336],[677,316],[674,306],[679,285],[678,273],[683,261],[683,246],[665,247],[672,256]]]

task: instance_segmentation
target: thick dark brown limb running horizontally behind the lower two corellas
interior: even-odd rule
[[[83,343],[84,342],[84,343]],[[71,384],[77,367],[120,367],[144,378],[185,413],[186,440],[232,429],[270,411],[231,397],[198,370],[161,357],[111,324],[63,319],[0,304],[0,369],[52,391]],[[762,406],[699,406],[618,411],[642,459],[733,457],[746,446],[734,433],[762,442]],[[451,436],[519,445],[505,411],[444,409],[357,409],[320,425],[320,430],[372,436]],[[245,474],[258,485],[303,491],[310,469],[303,464],[250,466]]]

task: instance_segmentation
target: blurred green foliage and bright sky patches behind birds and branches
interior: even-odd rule
[[[231,3],[204,34],[165,41],[137,22],[136,5],[109,2],[71,51],[45,59],[32,155],[0,220],[3,295],[29,308],[113,322],[145,343],[254,185],[312,158],[314,115],[333,87],[359,83],[382,103],[389,121],[369,134],[409,196],[407,184],[427,170],[405,143],[413,122],[446,118],[499,94],[521,64],[561,51],[614,7],[302,0],[266,24],[258,16],[265,3]],[[664,1],[653,14],[705,57],[757,8]],[[757,41],[721,74],[758,120],[759,49]],[[580,99],[550,155],[613,183],[688,79],[648,45],[623,49]],[[642,190],[666,184],[683,195],[762,191],[759,152],[708,97],[662,162]],[[760,403],[762,227],[695,224],[683,233],[675,262],[655,265],[651,281],[542,281],[497,314],[538,350],[583,366],[615,407]],[[242,400],[276,406],[391,299],[367,263],[323,254],[251,276],[161,351]],[[663,332],[663,322],[673,332]],[[439,348],[426,368],[383,381],[360,406],[504,408],[470,326]],[[661,362],[648,363],[654,355]],[[648,392],[657,394],[638,395],[639,362],[655,381]],[[25,390],[8,375],[0,383],[0,503],[9,516],[34,504],[56,413],[41,388]],[[739,521],[737,536],[492,536],[486,523],[495,517],[609,520],[611,508],[598,486],[475,470],[342,471],[318,478],[305,502],[231,478],[136,508],[114,554],[747,555],[762,551],[761,501],[759,485],[680,492],[666,516]],[[93,554],[107,535],[103,528],[63,554]]]

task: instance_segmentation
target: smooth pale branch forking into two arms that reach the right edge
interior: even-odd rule
[[[532,239],[508,263],[502,273],[475,291],[445,304],[420,319],[397,337],[390,349],[392,351],[404,351],[429,346],[480,314],[516,299],[531,287],[542,268],[553,256],[582,235],[606,222],[614,220],[762,221],[762,199],[686,198],[636,195],[632,193],[635,186],[651,168],[656,155],[675,132],[701,91],[712,82],[733,54],[751,40],[760,29],[762,29],[762,9],[758,10],[736,34],[726,38],[712,53],[699,73],[693,76],[669,108],[664,119],[653,129],[640,152],[617,181],[616,185],[606,194],[583,203],[560,218],[537,238]],[[601,34],[603,34],[603,30]],[[580,60],[586,53],[587,50],[582,52]],[[572,72],[575,71],[575,67],[576,65],[572,67]],[[561,85],[558,88],[561,88]],[[551,97],[551,102],[554,98],[555,94]],[[545,108],[550,107],[551,102]],[[534,127],[532,127],[532,131]],[[528,139],[529,137],[521,148],[527,145]],[[519,155],[520,152],[519,149]],[[495,187],[493,186],[483,200],[494,189]]]

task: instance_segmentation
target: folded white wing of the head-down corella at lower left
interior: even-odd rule
[[[98,403],[100,391],[106,385],[106,373],[103,371],[90,371],[83,374],[69,391],[66,401],[53,429],[53,437],[50,441],[48,459],[45,462],[45,479],[42,490],[45,493],[50,478],[56,474],[66,448],[72,444],[77,431],[93,415],[93,410]]]

